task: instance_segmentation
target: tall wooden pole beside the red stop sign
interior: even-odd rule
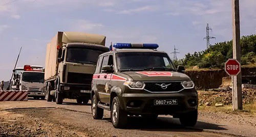
[[[233,59],[237,59],[238,62],[241,63],[239,0],[231,1],[233,18]],[[243,101],[241,72],[237,76],[232,76],[232,87],[233,110],[242,110]]]

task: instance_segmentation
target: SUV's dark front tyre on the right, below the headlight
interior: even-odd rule
[[[182,126],[190,126],[194,127],[197,123],[197,116],[198,116],[198,111],[193,111],[189,113],[182,114],[180,116],[180,123]]]

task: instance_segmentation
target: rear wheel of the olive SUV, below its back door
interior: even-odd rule
[[[92,113],[93,113],[93,118],[94,119],[102,119],[103,118],[103,113],[104,110],[102,108],[98,107],[98,99],[94,95],[92,99]]]

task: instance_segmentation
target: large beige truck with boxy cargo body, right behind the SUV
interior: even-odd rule
[[[104,45],[105,36],[58,32],[47,45],[47,101],[62,104],[63,99],[76,99],[79,104],[87,104],[98,56],[109,51]]]

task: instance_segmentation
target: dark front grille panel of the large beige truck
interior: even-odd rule
[[[92,83],[93,74],[68,72],[68,83],[70,84],[90,84]]]

